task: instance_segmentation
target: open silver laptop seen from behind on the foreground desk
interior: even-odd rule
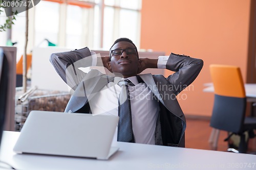
[[[14,146],[16,153],[109,159],[119,117],[84,113],[29,113]]]

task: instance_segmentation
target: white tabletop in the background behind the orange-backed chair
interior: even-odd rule
[[[205,92],[214,92],[214,85],[212,83],[205,83]],[[256,84],[245,84],[245,93],[248,98],[256,98]]]

